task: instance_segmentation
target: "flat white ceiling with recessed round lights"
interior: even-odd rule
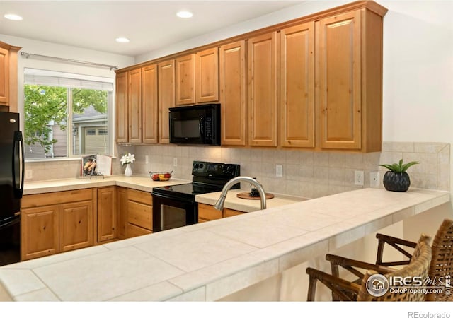
[[[0,0],[0,33],[136,57],[301,2]],[[182,9],[193,18],[176,17]],[[115,42],[119,36],[130,43]]]

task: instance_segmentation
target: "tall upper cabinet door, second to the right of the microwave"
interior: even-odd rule
[[[277,146],[277,33],[248,40],[248,143]]]

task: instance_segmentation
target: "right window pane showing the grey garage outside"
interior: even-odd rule
[[[71,88],[72,155],[108,154],[108,92]],[[98,131],[104,131],[99,134]]]

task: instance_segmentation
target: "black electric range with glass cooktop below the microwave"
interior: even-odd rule
[[[222,191],[226,182],[239,175],[240,165],[194,161],[191,183],[153,189],[153,232],[197,223],[195,195]],[[239,187],[238,183],[232,188]]]

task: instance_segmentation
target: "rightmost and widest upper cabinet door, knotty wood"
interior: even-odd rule
[[[321,148],[360,149],[360,11],[321,19],[316,30]]]

